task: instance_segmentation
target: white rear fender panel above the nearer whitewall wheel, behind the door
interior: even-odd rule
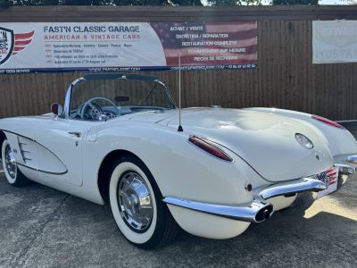
[[[92,129],[88,136],[93,137]],[[158,184],[162,197],[180,197],[219,204],[243,204],[253,195],[247,183],[262,186],[263,180],[237,155],[227,151],[233,163],[220,160],[188,141],[189,133],[178,132],[151,123],[132,123],[99,130],[95,142],[83,147],[84,184],[86,178],[97,180],[106,155],[115,150],[130,152],[145,163]],[[226,150],[222,148],[223,150]],[[94,157],[95,155],[95,157]],[[93,159],[102,161],[95,163]]]

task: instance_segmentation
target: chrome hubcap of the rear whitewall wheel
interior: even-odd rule
[[[127,172],[122,176],[118,202],[120,215],[132,230],[143,232],[150,227],[154,214],[152,194],[137,172]]]

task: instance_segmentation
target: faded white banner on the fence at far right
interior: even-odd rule
[[[312,21],[312,63],[357,63],[357,21]]]

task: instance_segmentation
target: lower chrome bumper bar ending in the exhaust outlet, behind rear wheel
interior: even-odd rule
[[[240,206],[206,204],[176,197],[164,197],[162,201],[169,205],[177,205],[205,214],[243,222],[263,222],[273,214],[273,206],[262,201],[253,201]]]

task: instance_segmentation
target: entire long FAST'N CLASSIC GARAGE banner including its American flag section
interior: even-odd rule
[[[256,21],[0,22],[0,74],[257,66]]]

